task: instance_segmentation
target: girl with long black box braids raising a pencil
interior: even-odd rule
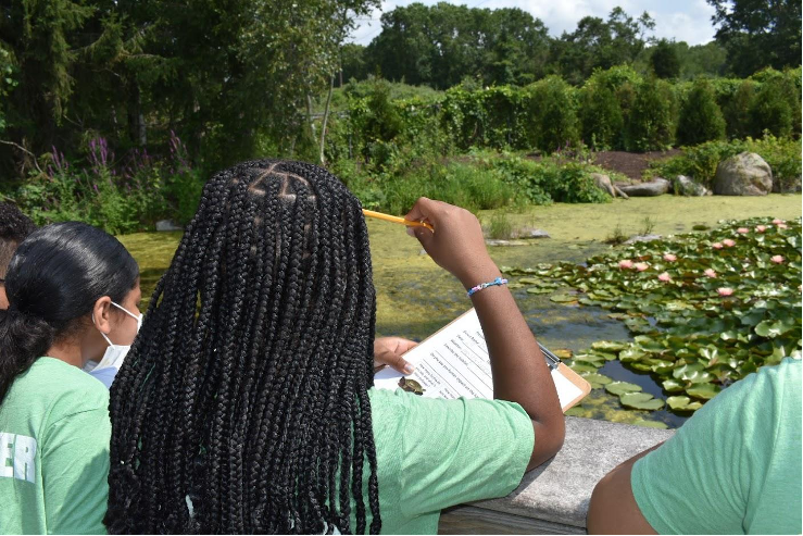
[[[498,272],[474,216],[414,212],[466,284]],[[474,298],[495,401],[374,389],[375,301],[340,180],[272,160],[213,176],[112,387],[109,532],[435,534],[556,452],[557,396],[506,289]]]

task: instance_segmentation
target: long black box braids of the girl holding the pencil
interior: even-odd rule
[[[375,323],[337,177],[271,160],[213,176],[112,388],[109,532],[378,534]]]

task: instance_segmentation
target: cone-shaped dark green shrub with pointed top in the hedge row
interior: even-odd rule
[[[707,80],[697,80],[680,107],[677,138],[687,146],[725,138],[725,119]]]

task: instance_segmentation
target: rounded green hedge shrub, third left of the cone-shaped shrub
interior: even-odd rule
[[[553,152],[579,141],[575,90],[559,76],[550,76],[529,88],[535,125],[534,146]]]

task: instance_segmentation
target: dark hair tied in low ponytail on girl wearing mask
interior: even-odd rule
[[[29,235],[5,276],[10,307],[0,311],[0,403],[14,379],[79,328],[100,298],[123,301],[138,277],[125,247],[90,225],[57,223]]]

